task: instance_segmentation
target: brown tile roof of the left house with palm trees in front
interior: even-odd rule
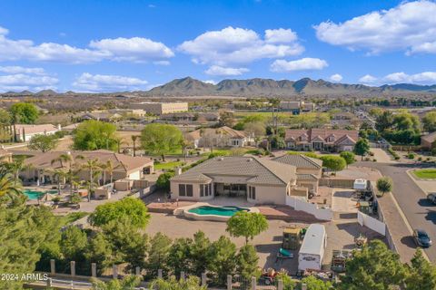
[[[62,154],[71,154],[76,164],[84,164],[87,160],[97,159],[100,163],[106,163],[111,160],[114,164],[114,171],[130,172],[134,169],[140,169],[143,166],[153,164],[153,160],[144,157],[132,157],[129,155],[118,154],[108,150],[95,151],[49,151],[38,153],[35,156],[25,160],[25,164],[32,164],[37,169],[61,169],[61,162],[52,160],[57,159]],[[84,160],[78,158],[84,157]],[[67,166],[64,164],[64,167]]]

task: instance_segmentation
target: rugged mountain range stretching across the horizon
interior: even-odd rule
[[[191,77],[175,79],[163,85],[154,87],[150,91],[136,92],[108,92],[104,94],[133,94],[136,96],[242,96],[242,97],[287,97],[295,95],[304,96],[380,96],[380,95],[436,95],[436,84],[419,85],[412,83],[384,84],[381,86],[368,86],[363,84],[347,84],[327,82],[324,80],[314,81],[303,78],[298,81],[272,79],[248,79],[248,80],[223,80],[216,84],[202,82]],[[52,90],[41,92],[5,92],[3,95],[74,95],[79,92],[57,93]],[[82,93],[80,93],[82,94]]]

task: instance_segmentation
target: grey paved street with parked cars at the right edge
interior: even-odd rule
[[[411,227],[426,230],[436,243],[436,206],[428,202],[425,192],[411,180],[406,172],[408,169],[421,168],[423,165],[375,162],[359,162],[359,165],[379,169],[383,176],[389,176],[393,180],[393,196]],[[415,247],[411,237],[404,237],[401,242]],[[426,249],[425,252],[431,262],[436,263],[436,245]]]

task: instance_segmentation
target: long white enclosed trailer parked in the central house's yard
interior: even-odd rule
[[[325,227],[320,224],[309,226],[298,253],[298,269],[321,270],[322,257],[326,246],[327,234],[325,233]]]

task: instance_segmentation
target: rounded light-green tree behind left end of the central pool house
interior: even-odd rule
[[[148,124],[141,132],[143,149],[150,154],[162,156],[163,161],[166,154],[181,148],[182,140],[182,131],[169,124]]]

